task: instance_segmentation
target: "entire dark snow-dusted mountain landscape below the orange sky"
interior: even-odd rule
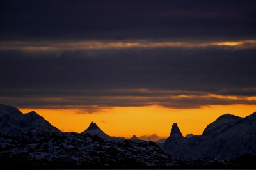
[[[57,161],[100,167],[122,164],[125,167],[196,167],[195,164],[223,167],[231,163],[218,160],[256,154],[256,112],[246,118],[220,116],[202,135],[183,137],[174,123],[164,143],[143,141],[136,135],[129,140],[110,137],[93,122],[81,134],[61,132],[36,112],[22,114],[19,109],[3,104],[0,104],[0,118],[1,164],[50,165]]]

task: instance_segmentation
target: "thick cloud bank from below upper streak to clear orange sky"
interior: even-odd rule
[[[255,98],[247,98],[256,95],[256,49],[1,50],[0,54],[0,102],[17,107],[94,112],[115,106],[184,109],[256,104]]]

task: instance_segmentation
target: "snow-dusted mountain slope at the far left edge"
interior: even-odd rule
[[[0,104],[0,132],[20,134],[31,130],[59,131],[34,111],[22,114],[15,107]]]

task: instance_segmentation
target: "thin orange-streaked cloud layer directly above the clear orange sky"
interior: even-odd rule
[[[84,97],[15,97],[0,98],[0,102],[14,105],[19,108],[37,109],[81,109],[77,112],[93,113],[111,107],[139,107],[158,105],[173,109],[200,108],[207,105],[232,105],[246,104],[256,105],[256,100],[247,98],[220,98],[211,96],[188,96],[188,97],[113,97],[113,96],[84,96]]]

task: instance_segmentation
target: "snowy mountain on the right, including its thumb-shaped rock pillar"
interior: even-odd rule
[[[256,112],[245,118],[225,114],[209,124],[202,135],[183,137],[173,124],[164,151],[182,159],[231,160],[246,153],[256,154]]]

